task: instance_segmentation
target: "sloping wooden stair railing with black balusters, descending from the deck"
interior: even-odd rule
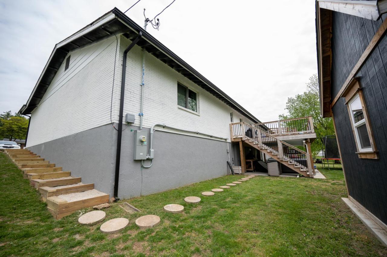
[[[241,138],[241,140],[251,140],[266,150],[275,153],[280,160],[294,163],[296,166],[305,169],[313,177],[310,154],[295,146],[277,139],[273,134],[262,131],[262,127],[256,128],[247,123],[238,122],[230,124],[231,139]]]

